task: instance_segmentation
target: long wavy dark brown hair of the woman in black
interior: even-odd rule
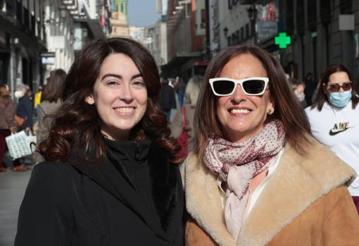
[[[125,38],[100,39],[77,54],[65,80],[63,104],[56,113],[49,137],[38,150],[51,161],[96,161],[106,156],[101,133],[101,118],[96,106],[85,102],[99,77],[103,60],[110,54],[125,54],[136,64],[146,83],[148,102],[146,113],[132,129],[131,140],[154,140],[165,150],[173,163],[180,162],[175,154],[180,145],[170,137],[170,129],[158,106],[160,78],[156,63],[141,44]],[[90,157],[91,156],[91,157]]]

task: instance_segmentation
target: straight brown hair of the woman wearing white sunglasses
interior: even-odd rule
[[[208,137],[211,134],[224,137],[222,126],[216,114],[217,100],[210,89],[209,79],[216,78],[220,71],[235,56],[251,54],[255,56],[269,78],[270,97],[275,103],[275,112],[267,116],[267,122],[274,118],[282,121],[286,133],[286,141],[299,153],[306,153],[306,145],[310,142],[310,125],[306,113],[294,98],[282,66],[278,61],[263,49],[256,46],[232,46],[220,51],[208,64],[203,79],[203,86],[199,96],[199,102],[194,113],[194,130],[197,133],[194,152],[199,160],[203,159]],[[238,64],[241,66],[241,64]]]

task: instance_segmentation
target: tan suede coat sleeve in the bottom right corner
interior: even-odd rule
[[[359,216],[346,187],[327,195],[327,216],[322,227],[322,245],[359,245]]]

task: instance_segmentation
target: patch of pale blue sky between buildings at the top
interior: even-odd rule
[[[128,23],[138,27],[153,25],[160,19],[156,0],[128,0]]]

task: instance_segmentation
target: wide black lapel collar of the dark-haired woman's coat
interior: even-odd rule
[[[154,218],[157,214],[151,213],[141,198],[134,194],[136,191],[128,182],[126,173],[122,173],[124,170],[117,170],[109,159],[104,159],[101,164],[84,161],[74,167],[134,211],[158,237],[171,240],[182,223],[184,210],[180,172],[175,164],[169,162],[168,155],[155,141],[151,143],[147,164],[153,202],[160,221]],[[119,171],[122,175],[117,175]]]

